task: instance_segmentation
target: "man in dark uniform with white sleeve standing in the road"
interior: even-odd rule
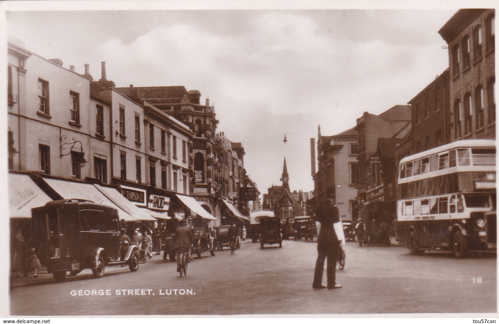
[[[320,222],[320,232],[317,239],[317,261],[313,278],[313,289],[323,289],[322,275],[324,273],[324,261],[327,258],[327,289],[339,289],[341,285],[336,284],[336,259],[340,247],[345,245],[343,226],[339,218],[338,207],[332,204],[332,194],[326,194],[320,203],[316,213],[316,219]]]

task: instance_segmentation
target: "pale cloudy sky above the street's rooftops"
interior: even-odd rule
[[[444,72],[448,49],[438,30],[460,3],[338,9],[322,1],[318,9],[317,2],[255,8],[152,1],[138,10],[136,1],[64,2],[10,3],[7,35],[78,73],[90,64],[94,79],[105,61],[117,87],[199,90],[201,102],[209,97],[215,106],[217,131],[243,144],[245,168],[261,193],[281,185],[284,157],[290,189],[313,190],[310,138],[317,141],[319,125],[323,136],[341,133],[364,111],[407,104]]]

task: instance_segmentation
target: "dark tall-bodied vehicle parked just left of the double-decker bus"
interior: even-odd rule
[[[390,229],[393,221],[390,203],[384,201],[367,202],[362,205],[362,221],[366,230],[364,242],[367,245],[389,245]]]

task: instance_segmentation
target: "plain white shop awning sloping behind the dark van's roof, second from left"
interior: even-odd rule
[[[131,214],[125,212],[123,209],[119,208],[118,206],[116,206],[116,204],[111,202],[91,183],[78,183],[46,178],[43,178],[43,181],[45,181],[53,190],[55,190],[55,192],[57,192],[64,199],[87,199],[97,204],[116,208],[118,210],[119,218],[125,220],[125,222],[138,221],[137,218],[133,217]]]

